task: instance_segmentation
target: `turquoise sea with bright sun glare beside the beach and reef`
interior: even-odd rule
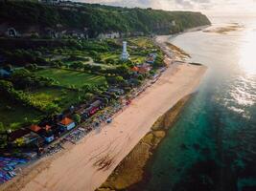
[[[256,190],[256,18],[212,21],[244,28],[170,39],[208,71],[136,190]]]

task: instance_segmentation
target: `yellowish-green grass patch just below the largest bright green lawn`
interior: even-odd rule
[[[54,87],[40,88],[28,94],[35,104],[45,107],[49,103],[56,103],[61,110],[79,101],[78,92]]]

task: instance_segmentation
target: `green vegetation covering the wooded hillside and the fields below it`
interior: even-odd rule
[[[164,55],[149,36],[138,35],[170,34],[210,24],[199,12],[69,4],[73,6],[0,1],[0,23],[21,34],[0,37],[1,68],[11,73],[0,78],[0,132],[52,117],[71,105],[88,103],[111,85],[124,90],[139,86],[150,73],[136,74],[130,69],[156,53],[153,74],[164,66]],[[34,28],[35,33],[31,33]],[[54,38],[47,29],[58,34],[77,32],[89,39],[72,34]],[[29,34],[23,35],[26,32]],[[123,39],[94,39],[105,32],[122,33],[128,41],[128,61],[120,60]],[[78,115],[73,119],[81,121]]]

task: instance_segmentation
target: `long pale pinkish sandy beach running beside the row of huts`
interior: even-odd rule
[[[156,40],[163,43],[164,37]],[[170,60],[167,58],[166,61]],[[131,105],[101,132],[90,134],[62,155],[48,159],[49,165],[37,171],[33,179],[12,182],[15,188],[7,186],[5,190],[95,190],[151,130],[158,117],[182,97],[195,92],[205,71],[204,66],[171,65],[156,83],[133,99]],[[26,179],[26,176],[18,179]]]

